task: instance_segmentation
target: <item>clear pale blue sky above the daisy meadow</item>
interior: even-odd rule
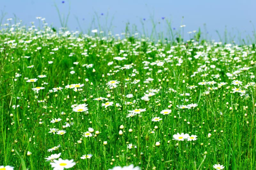
[[[129,22],[130,30],[132,27],[135,30],[133,25],[136,25],[134,32],[143,34],[142,22],[146,34],[150,36],[153,21],[157,33],[164,32],[166,37],[170,36],[167,33],[170,32],[166,23],[168,20],[171,21],[172,29],[175,28],[173,31],[183,33],[185,40],[189,39],[187,32],[198,31],[200,27],[203,37],[207,36],[208,39],[216,41],[220,40],[216,30],[224,40],[227,29],[228,39],[236,37],[237,42],[239,39],[246,41],[248,35],[252,37],[252,25],[256,26],[253,12],[256,7],[255,0],[66,0],[64,3],[62,0],[1,0],[0,9],[6,13],[3,23],[6,18],[13,18],[15,14],[25,25],[30,25],[31,21],[38,25],[36,17],[43,17],[49,25],[59,28],[60,19],[54,3],[61,16],[67,16],[70,10],[68,29],[81,31],[79,22],[84,33],[90,29],[99,29],[100,25],[104,31],[110,29],[113,34],[120,34],[125,31],[126,23]],[[180,25],[186,27],[180,29]]]

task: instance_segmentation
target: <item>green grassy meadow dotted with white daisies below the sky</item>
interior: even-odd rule
[[[254,44],[10,21],[0,45],[1,170],[256,168]]]

